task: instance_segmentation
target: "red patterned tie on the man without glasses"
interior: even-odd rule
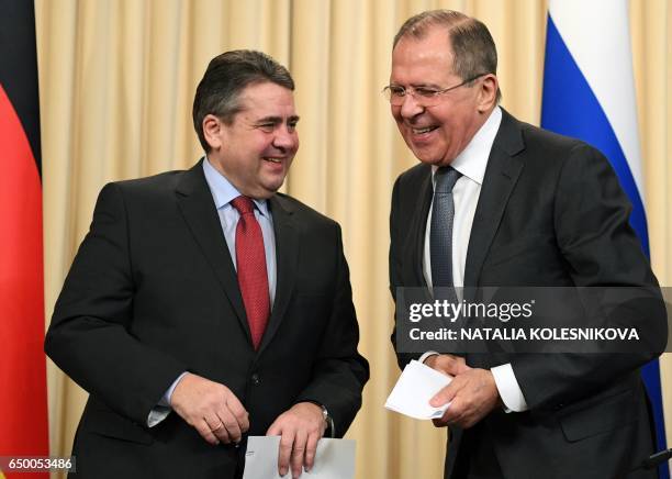
[[[255,205],[249,198],[235,198],[231,204],[240,213],[236,226],[238,286],[245,303],[253,344],[255,349],[258,349],[270,312],[264,236],[255,218]]]

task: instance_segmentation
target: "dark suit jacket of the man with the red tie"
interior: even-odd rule
[[[232,478],[240,454],[210,446],[177,413],[147,415],[182,371],[227,386],[264,435],[296,402],[324,404],[341,436],[368,364],[340,229],[270,199],[277,290],[258,352],[202,165],[103,188],[58,298],[45,349],[90,393],[78,477]]]

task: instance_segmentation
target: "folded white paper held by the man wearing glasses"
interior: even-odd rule
[[[396,385],[394,385],[394,389],[390,392],[385,401],[385,408],[414,419],[439,419],[450,403],[440,408],[433,408],[429,405],[429,400],[448,386],[451,380],[451,376],[412,360],[406,365]]]

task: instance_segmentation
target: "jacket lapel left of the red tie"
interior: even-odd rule
[[[213,268],[251,345],[238,278],[226,247],[226,239],[212,193],[205,181],[202,160],[190,170],[184,171],[177,185],[176,196],[179,209],[194,241],[203,252],[208,264]]]

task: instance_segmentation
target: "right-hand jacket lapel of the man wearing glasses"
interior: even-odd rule
[[[502,109],[502,123],[488,159],[471,226],[464,267],[466,287],[479,286],[483,261],[500,227],[511,192],[523,170],[523,163],[515,155],[524,148],[519,123]]]

